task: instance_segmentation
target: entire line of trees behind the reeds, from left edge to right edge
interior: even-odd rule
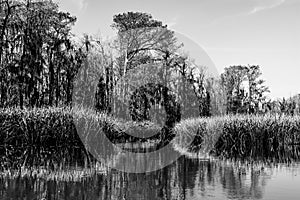
[[[50,0],[0,0],[0,5],[1,108],[70,106],[77,84],[82,89],[75,95],[92,94],[90,105],[98,111],[122,113],[125,108],[118,102],[129,104],[129,94],[137,89],[132,85],[142,86],[144,81],[145,71],[137,70],[134,79],[140,81],[126,82],[128,72],[156,65],[160,67],[155,73],[146,69],[148,79],[163,77],[180,103],[196,96],[200,116],[298,113],[296,97],[267,100],[269,90],[260,78],[259,66],[230,66],[220,78],[210,77],[205,67],[195,66],[192,58],[182,53],[184,44],[178,43],[174,32],[150,14],[113,16],[113,40],[86,34],[75,42],[71,28],[76,17],[60,11]],[[80,79],[74,83],[77,77]],[[182,77],[190,88],[179,83]],[[149,109],[165,103],[150,105],[144,100],[140,104],[136,107]],[[182,105],[181,111],[189,112],[184,110],[188,107]]]

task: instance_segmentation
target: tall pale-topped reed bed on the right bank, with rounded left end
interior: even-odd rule
[[[289,161],[300,155],[299,116],[223,116],[182,121],[175,127],[177,148],[223,158]],[[191,145],[189,138],[194,138]]]

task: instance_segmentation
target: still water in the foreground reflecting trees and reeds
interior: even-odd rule
[[[300,199],[300,163],[180,157],[149,173],[70,169],[0,177],[0,199]]]

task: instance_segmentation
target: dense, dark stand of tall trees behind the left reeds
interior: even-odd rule
[[[83,53],[52,1],[0,1],[0,107],[67,105]]]

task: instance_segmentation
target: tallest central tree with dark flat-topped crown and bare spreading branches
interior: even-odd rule
[[[162,25],[162,22],[154,20],[151,15],[146,13],[123,13],[115,15],[112,27],[117,30],[117,40],[115,41],[116,49],[116,68],[119,71],[118,79],[124,78],[128,70],[132,70],[144,64],[163,63],[164,57],[169,55],[172,48],[176,48],[176,38],[174,33]],[[161,67],[165,70],[165,67]],[[167,71],[167,70],[165,70]],[[129,90],[134,91],[132,84],[123,84],[118,86],[122,94],[119,96],[123,99]]]

